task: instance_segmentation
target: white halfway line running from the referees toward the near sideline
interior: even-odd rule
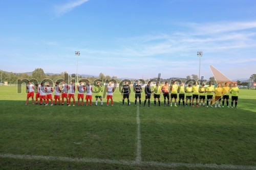
[[[140,139],[140,109],[139,106],[137,106],[137,157],[136,162],[141,162],[141,139]]]

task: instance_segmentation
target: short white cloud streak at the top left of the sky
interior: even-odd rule
[[[88,1],[89,0],[77,0],[77,1],[72,1],[70,3],[67,3],[67,4],[56,6],[54,9],[56,17],[60,17],[60,16],[64,15],[65,13],[72,11],[75,7],[78,7]]]

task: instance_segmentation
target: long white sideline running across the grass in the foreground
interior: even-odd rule
[[[189,168],[215,168],[215,169],[256,169],[256,166],[247,165],[230,165],[230,164],[202,164],[202,163],[163,163],[163,162],[146,162],[146,161],[126,161],[126,160],[111,160],[111,159],[94,159],[94,158],[69,158],[59,156],[36,156],[36,155],[14,155],[0,154],[0,158],[14,158],[27,160],[49,160],[49,161],[64,161],[64,162],[82,162],[82,163],[109,163],[121,165],[142,165],[142,166],[161,166],[161,167],[189,167]]]

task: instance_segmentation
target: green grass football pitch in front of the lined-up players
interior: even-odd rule
[[[14,86],[0,94],[1,169],[256,169],[256,90],[240,90],[238,109],[163,107],[162,96],[138,107],[133,93],[128,107],[118,92],[114,107],[25,106]]]

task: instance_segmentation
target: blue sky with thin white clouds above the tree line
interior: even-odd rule
[[[0,69],[142,78],[249,78],[253,0],[10,0],[0,3]]]

